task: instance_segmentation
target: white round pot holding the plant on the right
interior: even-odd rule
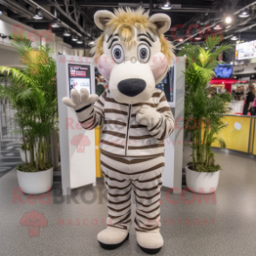
[[[219,184],[219,171],[195,172],[185,167],[185,181],[191,192],[209,194],[217,190]]]

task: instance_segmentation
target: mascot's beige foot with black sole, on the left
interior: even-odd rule
[[[116,249],[129,239],[129,232],[120,228],[108,226],[98,233],[98,242],[106,250]]]

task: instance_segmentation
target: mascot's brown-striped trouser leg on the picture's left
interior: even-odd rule
[[[127,229],[131,226],[131,179],[125,158],[101,154],[101,169],[108,192],[107,226]]]

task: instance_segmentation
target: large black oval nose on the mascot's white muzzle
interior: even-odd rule
[[[125,96],[134,97],[145,90],[145,81],[138,78],[129,78],[118,83],[118,91]]]

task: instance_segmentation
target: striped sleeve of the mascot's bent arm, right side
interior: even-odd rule
[[[174,129],[174,118],[170,106],[165,98],[164,91],[161,92],[159,98],[157,111],[160,113],[161,118],[159,118],[157,125],[148,127],[148,131],[152,137],[162,141],[165,140],[165,138],[168,138],[172,133]]]

